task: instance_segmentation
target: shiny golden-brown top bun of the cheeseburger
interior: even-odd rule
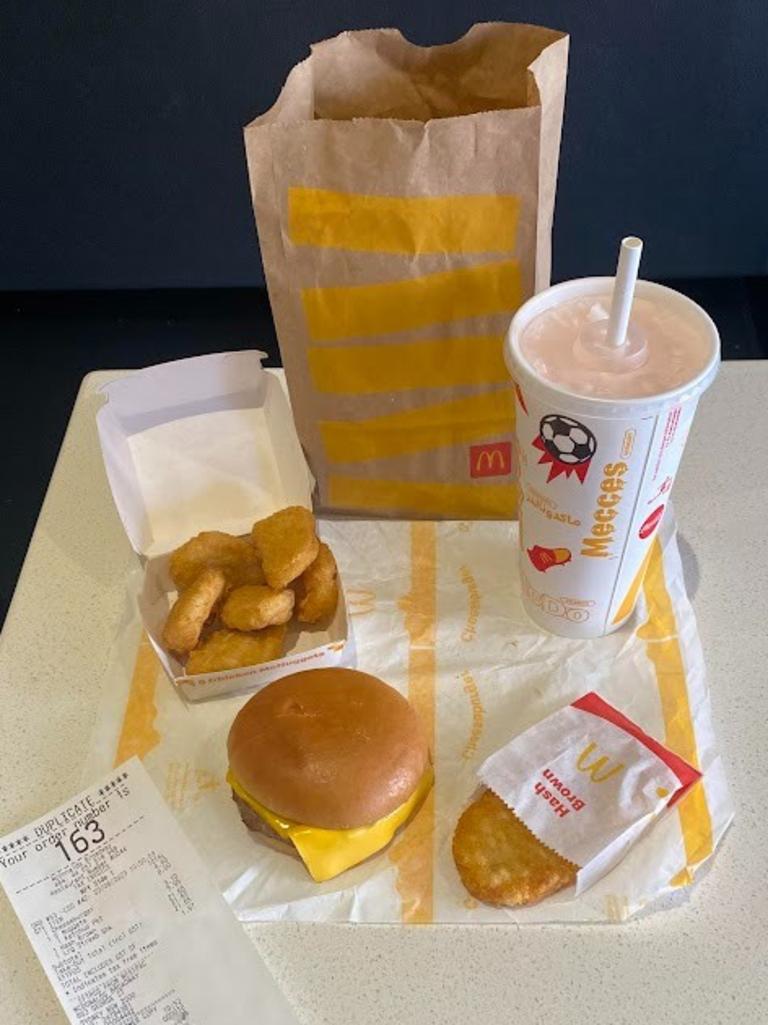
[[[429,766],[418,716],[354,669],[310,669],[254,695],[232,724],[230,768],[276,815],[324,829],[370,825],[416,789]]]

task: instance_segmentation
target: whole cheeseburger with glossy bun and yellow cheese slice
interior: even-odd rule
[[[413,707],[354,669],[266,687],[240,709],[227,746],[243,822],[294,848],[317,883],[386,847],[433,781]]]

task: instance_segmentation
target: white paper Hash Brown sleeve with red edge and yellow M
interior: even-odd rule
[[[579,866],[580,894],[701,773],[593,692],[515,737],[478,776],[542,844]]]

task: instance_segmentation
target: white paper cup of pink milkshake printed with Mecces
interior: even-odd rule
[[[632,615],[719,364],[717,329],[695,302],[633,280],[617,326],[613,288],[584,278],[533,296],[504,348],[518,396],[523,600],[566,637],[600,637]]]

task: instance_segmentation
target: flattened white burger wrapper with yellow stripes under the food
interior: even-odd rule
[[[412,702],[435,764],[434,787],[392,843],[333,878],[316,883],[284,846],[273,850],[243,826],[227,783],[227,736],[247,696],[200,702],[191,710],[166,686],[149,643],[139,644],[137,617],[116,638],[83,779],[95,778],[113,761],[140,755],[233,911],[247,922],[616,921],[663,907],[662,899],[694,878],[698,885],[699,875],[701,899],[711,899],[706,891],[719,866],[711,873],[700,869],[713,860],[733,806],[674,525],[665,517],[654,536],[634,623],[587,641],[543,632],[524,611],[514,521],[320,521],[345,581],[358,665]],[[137,570],[131,588],[140,587]],[[620,783],[634,794],[632,822],[656,814],[652,827],[578,895],[569,888],[519,908],[478,902],[451,853],[456,822],[477,790],[478,769],[510,738],[575,701],[587,680],[649,737],[662,738],[699,770],[701,779],[664,811],[680,785],[674,772],[655,763],[649,770],[657,786],[669,780],[663,797],[654,797],[650,782],[650,789],[636,786],[631,765],[643,763],[631,764],[625,750],[610,746],[634,743],[632,737],[624,740],[609,723],[579,712],[576,757],[583,753],[588,772],[575,772],[577,783],[565,782],[557,762],[564,748],[555,743],[537,747],[538,762],[524,767],[529,775],[551,770],[562,786],[548,779],[550,797],[571,810],[562,818],[554,806],[543,807],[545,795],[534,793],[535,801],[556,826],[570,827],[585,822],[590,808],[575,811],[566,789],[574,801],[595,799]],[[608,737],[603,728],[612,731]],[[620,781],[592,782],[591,772],[602,779],[616,763],[626,764]],[[622,808],[619,802],[621,815]],[[617,831],[624,836],[623,819]],[[587,866],[591,852],[579,848],[576,856]]]

